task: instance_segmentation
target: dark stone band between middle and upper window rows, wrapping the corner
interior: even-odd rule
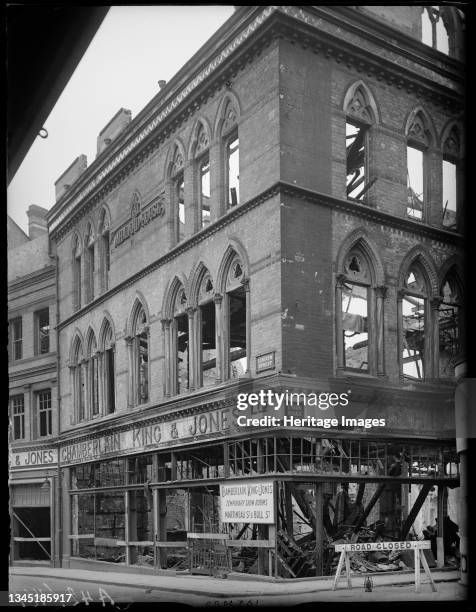
[[[187,240],[181,242],[178,246],[174,247],[171,251],[169,251],[162,257],[159,257],[152,263],[148,264],[139,272],[136,272],[129,278],[126,278],[122,282],[118,283],[117,285],[109,289],[106,293],[103,293],[98,298],[96,298],[93,302],[90,302],[80,310],[73,313],[70,317],[63,319],[63,321],[58,324],[58,329],[64,329],[67,325],[70,325],[77,319],[81,318],[83,315],[87,314],[88,312],[91,312],[116,293],[123,291],[127,287],[130,287],[131,285],[136,283],[141,278],[148,276],[149,274],[151,274],[158,268],[164,266],[165,264],[169,263],[182,253],[188,251],[200,242],[203,242],[204,240],[208,239],[211,235],[215,234],[223,227],[226,227],[232,221],[244,215],[249,210],[255,208],[259,204],[269,200],[270,198],[276,195],[289,195],[291,197],[305,199],[308,202],[314,202],[315,204],[319,204],[321,206],[327,206],[335,211],[352,214],[354,216],[372,221],[377,224],[386,225],[388,227],[393,227],[394,229],[399,229],[405,232],[412,233],[417,237],[424,236],[431,240],[450,243],[461,248],[463,248],[464,246],[464,240],[461,234],[450,232],[444,229],[439,229],[436,227],[431,227],[419,221],[412,221],[411,219],[396,217],[395,215],[376,210],[375,208],[366,206],[365,204],[360,204],[358,202],[350,200],[341,200],[339,198],[334,198],[332,196],[319,193],[317,191],[304,189],[302,187],[297,187],[296,185],[292,185],[290,183],[279,181],[275,183],[272,187],[264,190],[252,200],[249,200],[248,202],[242,204],[241,206],[238,206],[237,208],[231,209],[223,217],[220,217],[217,221],[215,221],[208,227],[202,229]]]

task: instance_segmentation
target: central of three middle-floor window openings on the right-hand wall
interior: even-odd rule
[[[406,295],[402,299],[403,374],[420,380],[425,376],[425,309],[424,298]]]

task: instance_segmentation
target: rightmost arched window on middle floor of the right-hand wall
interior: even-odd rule
[[[461,351],[461,293],[456,276],[450,274],[442,286],[442,301],[438,309],[440,376],[454,375],[454,358]]]

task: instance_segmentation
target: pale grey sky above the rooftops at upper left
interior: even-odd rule
[[[136,117],[233,14],[233,6],[113,6],[7,191],[8,214],[28,232],[30,204],[51,208],[54,182],[120,108]]]

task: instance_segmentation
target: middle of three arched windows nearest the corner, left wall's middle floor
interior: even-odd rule
[[[209,387],[217,379],[217,351],[215,332],[214,288],[209,274],[205,274],[199,291],[200,313],[200,386]]]

